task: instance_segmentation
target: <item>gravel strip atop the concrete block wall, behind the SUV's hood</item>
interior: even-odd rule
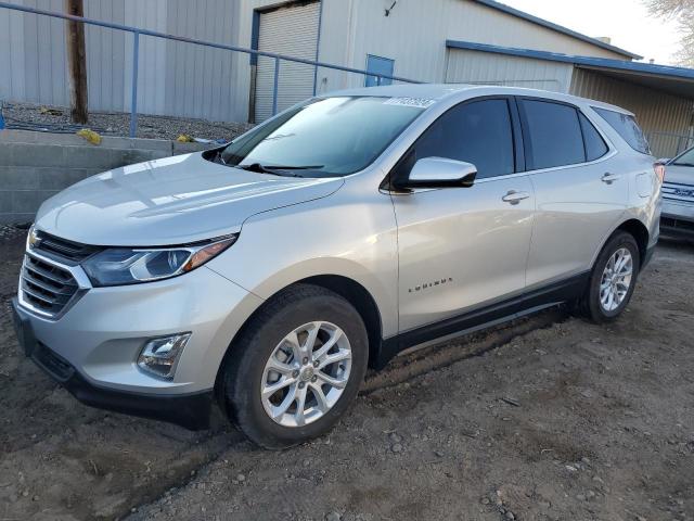
[[[69,120],[69,110],[60,106],[29,103],[4,103],[2,107],[8,127],[75,132],[82,126]],[[90,112],[83,126],[104,136],[129,136],[130,114],[120,112]],[[246,123],[219,123],[169,116],[138,116],[138,138],[176,139],[184,134],[193,138],[231,140],[249,129]]]

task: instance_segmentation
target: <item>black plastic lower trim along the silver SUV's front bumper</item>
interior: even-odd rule
[[[191,394],[145,394],[101,387],[87,381],[65,358],[42,344],[31,321],[12,300],[14,326],[24,354],[81,403],[101,409],[167,421],[191,430],[209,427],[213,391]]]

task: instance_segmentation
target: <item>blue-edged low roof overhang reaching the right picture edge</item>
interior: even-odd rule
[[[477,43],[473,41],[447,40],[446,47],[451,49],[464,49],[511,56],[530,58],[535,60],[547,60],[550,62],[569,63],[579,68],[592,69],[611,77],[667,91],[674,96],[694,99],[694,68],[630,62],[627,60],[612,60],[608,58],[575,56],[558,52],[489,46],[487,43]]]

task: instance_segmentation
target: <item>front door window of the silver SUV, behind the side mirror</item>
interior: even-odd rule
[[[408,176],[417,160],[446,157],[477,167],[477,178],[513,174],[511,114],[505,99],[463,103],[439,117],[414,143],[396,175]]]

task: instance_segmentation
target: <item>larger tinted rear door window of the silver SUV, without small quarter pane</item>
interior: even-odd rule
[[[522,100],[520,106],[528,169],[586,161],[583,136],[575,107],[537,100]]]

